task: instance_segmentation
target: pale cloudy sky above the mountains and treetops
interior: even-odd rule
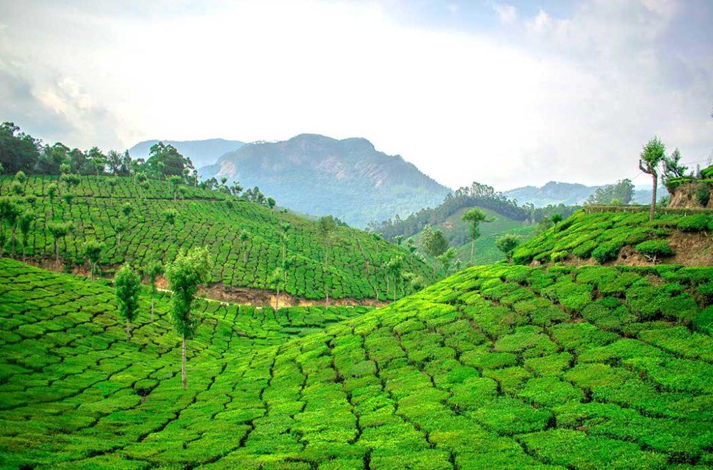
[[[0,0],[0,119],[47,143],[364,137],[451,188],[713,157],[713,2]]]

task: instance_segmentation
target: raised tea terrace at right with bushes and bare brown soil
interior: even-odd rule
[[[520,245],[513,261],[713,265],[713,211],[659,210],[650,222],[645,207],[612,210],[578,211]]]

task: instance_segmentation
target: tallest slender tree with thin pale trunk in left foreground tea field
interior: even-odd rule
[[[171,315],[176,332],[181,337],[181,378],[183,389],[186,389],[185,376],[185,342],[193,338],[198,328],[198,320],[190,315],[195,293],[198,286],[208,280],[212,260],[210,252],[205,247],[193,247],[178,253],[175,261],[166,267],[168,285],[173,290],[171,296]]]

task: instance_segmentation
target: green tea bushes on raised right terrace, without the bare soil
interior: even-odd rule
[[[580,210],[528,242],[513,252],[513,261],[528,263],[570,260],[597,262],[617,260],[626,246],[642,255],[657,256],[657,261],[676,253],[667,244],[667,238],[676,233],[696,234],[713,230],[713,214],[690,213],[687,211],[660,211],[654,220],[649,220],[645,208],[630,208],[612,212],[612,208],[589,208]],[[642,242],[655,243],[643,244]],[[658,250],[651,251],[653,247]],[[707,248],[695,247],[698,255],[710,256],[713,244]],[[653,259],[650,259],[653,260]]]

